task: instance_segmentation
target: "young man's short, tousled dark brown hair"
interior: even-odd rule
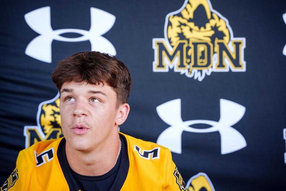
[[[65,82],[71,81],[111,86],[117,95],[116,107],[127,102],[132,84],[128,68],[122,61],[96,51],[76,53],[59,61],[52,80],[59,91]]]

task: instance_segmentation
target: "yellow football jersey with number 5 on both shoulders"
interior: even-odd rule
[[[122,187],[116,190],[186,190],[186,185],[172,161],[169,149],[120,134],[126,140],[129,167],[123,181],[122,177],[116,176],[114,182],[122,181],[119,184]],[[70,185],[70,181],[67,181],[66,172],[59,162],[57,151],[62,139],[41,141],[20,151],[15,170],[0,190],[79,191]]]

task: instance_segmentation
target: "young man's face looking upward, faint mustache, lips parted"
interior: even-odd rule
[[[110,86],[71,81],[60,91],[61,126],[71,148],[93,150],[118,130],[120,108],[116,109],[116,93]]]

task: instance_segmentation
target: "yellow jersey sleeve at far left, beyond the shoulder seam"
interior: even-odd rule
[[[26,179],[28,172],[28,164],[27,159],[23,151],[20,151],[17,161],[16,168],[4,182],[3,186],[0,187],[0,190],[5,191],[19,191],[25,190],[26,187]]]

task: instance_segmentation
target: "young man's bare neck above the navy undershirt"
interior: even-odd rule
[[[71,169],[86,176],[99,176],[110,171],[116,164],[120,147],[118,131],[105,140],[88,152],[74,150],[66,142],[66,158]]]

